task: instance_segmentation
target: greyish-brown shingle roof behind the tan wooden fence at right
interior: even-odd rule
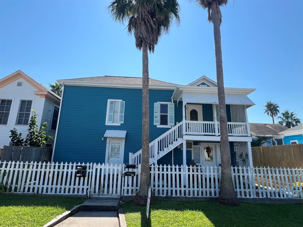
[[[287,129],[287,127],[280,124],[268,123],[249,123],[251,135],[272,135],[278,136],[280,132]]]

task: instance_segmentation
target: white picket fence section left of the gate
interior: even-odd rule
[[[7,192],[86,195],[90,178],[75,177],[76,163],[0,162],[0,182]],[[90,164],[80,164],[90,166]]]

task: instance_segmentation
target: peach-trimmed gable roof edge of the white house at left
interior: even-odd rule
[[[37,91],[35,91],[36,95],[46,95],[46,96],[54,98],[55,100],[60,102],[60,100],[61,100],[60,96],[58,96],[57,94],[52,92],[52,90],[48,89],[43,84],[35,81],[32,77],[28,76],[21,70],[15,71],[14,73],[9,74],[6,77],[3,77],[0,80],[0,88],[4,87],[20,78],[24,79],[26,82],[28,82],[29,84],[31,84],[33,87],[35,87],[37,89]]]

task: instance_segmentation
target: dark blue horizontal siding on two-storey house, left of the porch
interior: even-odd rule
[[[169,128],[157,128],[154,103],[171,102],[173,90],[149,90],[150,141]],[[124,124],[105,125],[108,99],[125,101]],[[182,102],[175,102],[175,122],[182,121]],[[128,153],[142,147],[142,89],[65,86],[55,146],[55,162],[105,162],[106,130],[126,130],[124,163]],[[182,156],[181,156],[182,157]]]

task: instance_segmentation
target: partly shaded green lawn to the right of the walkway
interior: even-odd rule
[[[146,207],[123,203],[128,227],[145,225]],[[217,202],[157,201],[151,206],[152,227],[204,226],[303,226],[303,204],[256,204],[241,202],[231,207]],[[149,225],[150,226],[150,225]]]

